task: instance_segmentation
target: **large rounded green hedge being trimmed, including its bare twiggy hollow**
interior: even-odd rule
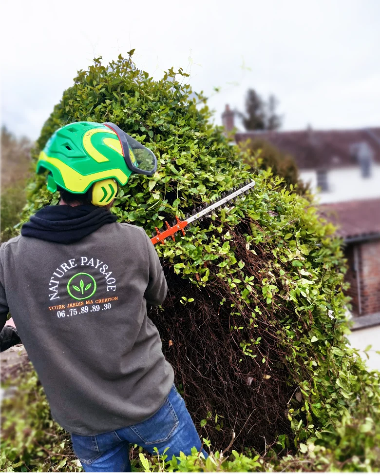
[[[159,168],[151,178],[132,177],[112,211],[152,234],[165,219],[252,178],[209,117],[181,70],[153,80],[131,57],[107,66],[96,59],[54,108],[35,157],[63,124],[119,124],[153,150]],[[341,421],[367,416],[376,426],[380,395],[378,375],[344,337],[340,242],[282,179],[253,178],[244,200],[157,246],[170,290],[150,317],[200,433],[217,448],[233,433],[232,447],[265,453],[337,447]],[[24,219],[57,203],[44,183],[29,184]],[[363,425],[363,432],[375,427]]]

